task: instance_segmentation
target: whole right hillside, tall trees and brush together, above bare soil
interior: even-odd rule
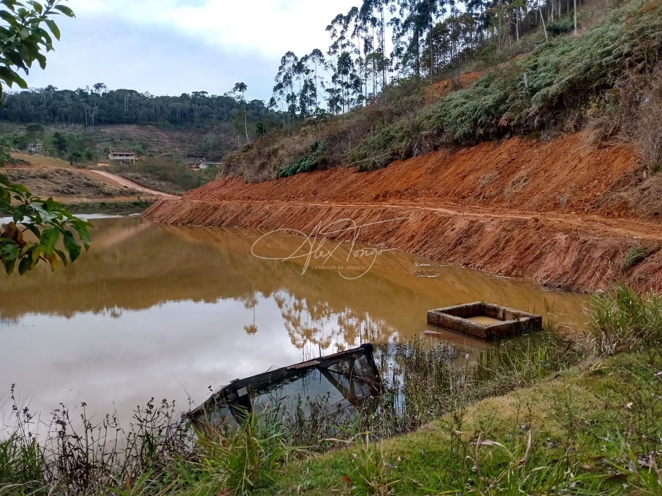
[[[329,25],[323,65],[283,58],[272,100],[285,93],[283,113],[299,125],[229,153],[223,170],[250,181],[334,166],[371,171],[441,147],[586,129],[593,144],[631,142],[642,165],[660,171],[662,0],[582,4],[365,0]],[[387,22],[383,12],[395,16]],[[362,13],[373,14],[368,24]],[[365,27],[373,25],[374,38]],[[379,73],[366,71],[372,52],[357,47],[379,50],[385,32],[393,52]],[[320,66],[328,79],[315,77]],[[305,118],[305,90],[316,85],[340,116]]]

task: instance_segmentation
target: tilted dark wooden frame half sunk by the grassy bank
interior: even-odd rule
[[[287,412],[306,407],[304,400],[323,398],[334,411],[355,409],[381,391],[373,346],[341,351],[263,374],[236,379],[189,412],[194,423],[240,422],[247,411],[277,406]]]

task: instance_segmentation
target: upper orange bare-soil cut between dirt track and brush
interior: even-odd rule
[[[512,138],[499,145],[483,143],[456,153],[445,150],[428,153],[394,162],[373,173],[339,168],[259,184],[228,178],[193,190],[184,198],[442,201],[538,211],[593,212],[602,206],[601,196],[612,183],[635,167],[636,155],[630,147],[591,147],[583,134],[546,144]],[[614,214],[613,208],[605,209],[605,213]]]

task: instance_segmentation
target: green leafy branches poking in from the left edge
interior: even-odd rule
[[[52,17],[73,17],[73,11],[59,0],[25,3],[0,0],[0,97],[3,85],[27,88],[18,71],[28,74],[34,62],[46,67],[43,52],[53,50],[53,37],[60,39],[60,30]],[[48,31],[44,29],[45,26]],[[0,145],[0,166],[9,155]],[[0,218],[9,221],[0,226],[0,264],[7,274],[18,266],[24,274],[42,261],[55,269],[58,260],[65,265],[89,249],[91,224],[74,217],[67,208],[52,198],[43,200],[0,173]],[[60,240],[62,247],[60,248]]]

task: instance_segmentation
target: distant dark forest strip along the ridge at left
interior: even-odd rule
[[[252,122],[258,135],[283,120],[261,100],[244,102],[244,93],[210,95],[193,91],[179,97],[158,97],[130,89],[108,91],[103,83],[75,91],[48,86],[5,92],[0,118],[20,123],[156,124],[180,128],[228,122],[244,134],[244,109],[246,120]]]

